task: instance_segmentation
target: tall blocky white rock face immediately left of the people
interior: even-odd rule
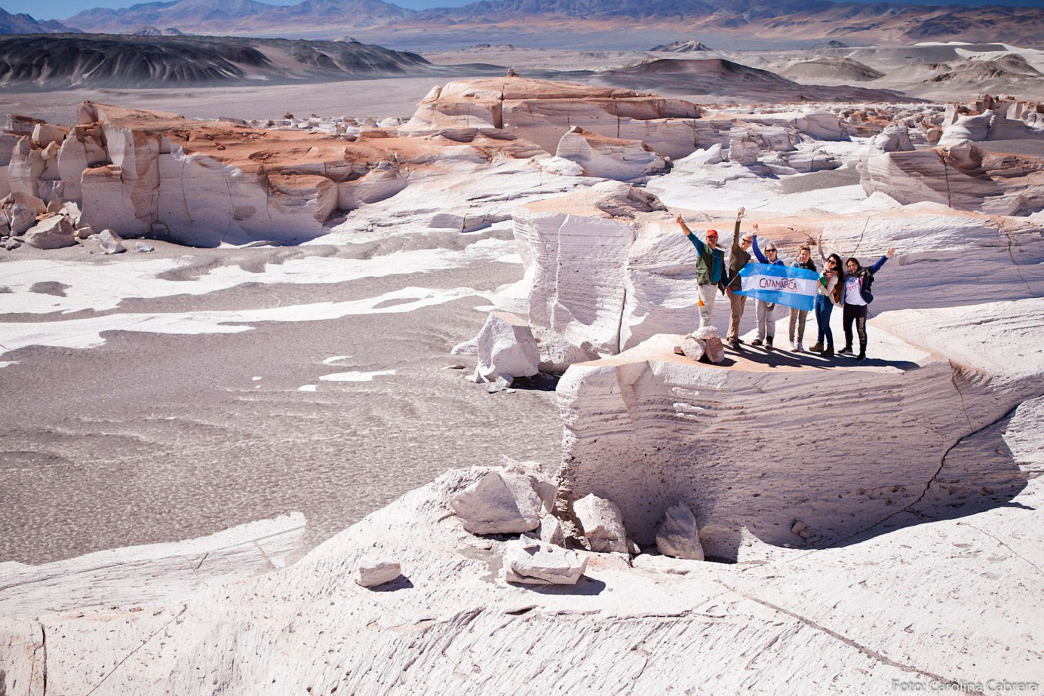
[[[625,184],[515,210],[542,365],[613,355],[694,321],[695,251],[660,201]]]

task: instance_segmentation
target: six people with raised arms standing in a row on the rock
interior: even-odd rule
[[[688,237],[692,245],[696,247],[696,283],[699,285],[699,328],[704,328],[711,321],[714,314],[715,293],[720,291],[729,297],[731,316],[729,318],[729,332],[726,340],[733,346],[738,346],[743,341],[739,338],[739,322],[743,318],[746,309],[745,294],[739,294],[742,289],[742,280],[739,271],[751,261],[756,259],[759,263],[768,265],[785,265],[779,259],[779,248],[775,243],[765,244],[764,251],[758,246],[758,223],[752,225],[752,232],[743,235],[739,234],[739,227],[743,219],[742,208],[736,213],[736,230],[732,238],[732,249],[729,253],[728,262],[725,257],[725,249],[717,245],[718,234],[716,230],[708,230],[704,239],[699,239],[679,215],[677,222],[682,227],[682,232]],[[818,326],[818,336],[815,344],[809,350],[821,353],[824,356],[834,355],[834,336],[830,330],[830,315],[835,306],[843,308],[843,326],[845,327],[845,347],[838,353],[841,355],[855,355],[856,360],[867,358],[867,309],[874,295],[871,293],[871,284],[874,282],[874,273],[881,269],[884,262],[896,253],[891,248],[873,266],[864,267],[854,257],[850,257],[844,264],[841,258],[836,254],[829,257],[823,254],[823,233],[820,233],[816,240],[816,250],[823,260],[823,270],[821,271],[812,261],[812,248],[809,244],[803,244],[798,249],[798,260],[791,265],[814,271],[820,274],[815,284],[815,303],[813,312],[815,322]],[[752,256],[753,253],[753,256]],[[765,350],[772,350],[773,340],[776,338],[776,321],[773,316],[776,309],[773,303],[764,299],[755,299],[758,337],[751,341],[751,345],[763,345]],[[808,318],[808,310],[789,308],[790,310],[790,350],[794,353],[804,352],[805,320]],[[852,326],[855,325],[856,334],[859,337],[859,353],[853,351]]]

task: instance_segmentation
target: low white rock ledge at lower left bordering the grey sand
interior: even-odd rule
[[[305,531],[301,512],[208,536],[108,549],[41,566],[0,563],[0,617],[176,601],[213,584],[286,565]]]

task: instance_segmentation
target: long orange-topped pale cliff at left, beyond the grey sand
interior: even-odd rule
[[[328,221],[397,195],[420,173],[479,168],[494,152],[539,152],[511,140],[432,142],[376,127],[274,130],[97,103],[85,103],[79,121],[8,131],[0,182],[45,203],[76,202],[80,223],[95,231],[198,246],[312,239],[328,232]]]

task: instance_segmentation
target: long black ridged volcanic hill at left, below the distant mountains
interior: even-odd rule
[[[22,34],[0,37],[0,87],[177,87],[289,83],[423,74],[416,53],[358,42]]]

